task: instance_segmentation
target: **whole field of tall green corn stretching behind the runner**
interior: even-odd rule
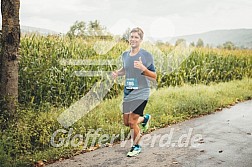
[[[252,50],[157,47],[148,42],[143,44],[143,48],[154,56],[158,88],[252,77]],[[102,80],[99,76],[74,75],[76,71],[115,70],[120,63],[120,55],[127,49],[128,44],[119,40],[106,42],[80,38],[70,40],[61,36],[23,36],[19,102],[32,106],[47,103],[69,106]],[[61,60],[65,60],[66,64],[70,60],[111,60],[117,64],[73,66],[64,65]],[[122,88],[123,85],[114,84],[106,98],[117,96]]]

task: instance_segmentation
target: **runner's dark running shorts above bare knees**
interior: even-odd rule
[[[129,102],[123,102],[123,114],[135,113],[143,116],[144,108],[148,100],[133,100]]]

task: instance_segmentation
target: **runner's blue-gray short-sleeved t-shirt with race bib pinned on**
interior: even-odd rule
[[[150,81],[142,74],[142,71],[134,68],[134,61],[141,61],[148,70],[155,72],[153,56],[144,49],[130,56],[130,51],[122,54],[123,67],[125,69],[124,102],[133,100],[147,100],[150,95]]]

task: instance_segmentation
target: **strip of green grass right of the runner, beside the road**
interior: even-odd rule
[[[163,127],[212,113],[218,108],[234,105],[239,101],[249,100],[252,98],[251,88],[251,79],[210,86],[161,88],[152,94],[146,110],[154,118],[153,128]]]

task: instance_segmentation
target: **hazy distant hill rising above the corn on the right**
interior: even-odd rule
[[[232,30],[215,30],[200,34],[192,34],[185,36],[177,36],[172,38],[169,42],[174,44],[177,39],[185,39],[186,42],[197,43],[201,38],[204,44],[216,47],[227,41],[233,42],[238,47],[246,47],[252,49],[252,29],[232,29]]]

